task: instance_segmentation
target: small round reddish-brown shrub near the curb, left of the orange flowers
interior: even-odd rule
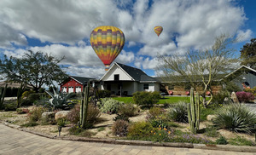
[[[123,137],[127,135],[129,123],[125,120],[117,120],[113,123],[112,133],[113,135]]]

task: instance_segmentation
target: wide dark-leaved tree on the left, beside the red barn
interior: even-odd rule
[[[50,85],[53,81],[60,83],[67,74],[61,70],[57,59],[43,52],[32,52],[29,50],[21,58],[7,57],[4,55],[0,60],[0,74],[7,81],[21,83],[24,86],[31,86],[36,92],[45,85]]]

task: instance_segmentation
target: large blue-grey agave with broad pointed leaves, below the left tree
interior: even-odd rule
[[[70,97],[72,94],[65,94],[61,91],[61,93],[58,93],[53,89],[54,94],[52,94],[49,91],[46,91],[52,98],[49,99],[48,103],[49,106],[52,106],[54,109],[64,109],[69,106],[69,103],[71,103]]]

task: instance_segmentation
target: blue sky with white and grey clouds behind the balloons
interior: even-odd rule
[[[255,6],[254,0],[2,0],[0,57],[42,51],[65,56],[61,65],[70,75],[101,78],[105,66],[90,47],[90,32],[117,26],[125,47],[115,61],[155,76],[156,55],[209,48],[221,34],[238,38],[232,46],[239,56],[256,37]],[[154,26],[163,26],[160,37]]]

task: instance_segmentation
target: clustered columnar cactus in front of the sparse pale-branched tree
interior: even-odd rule
[[[190,124],[190,130],[193,134],[199,129],[200,124],[200,98],[199,94],[195,93],[194,89],[190,90],[190,103],[188,104],[188,118]]]

